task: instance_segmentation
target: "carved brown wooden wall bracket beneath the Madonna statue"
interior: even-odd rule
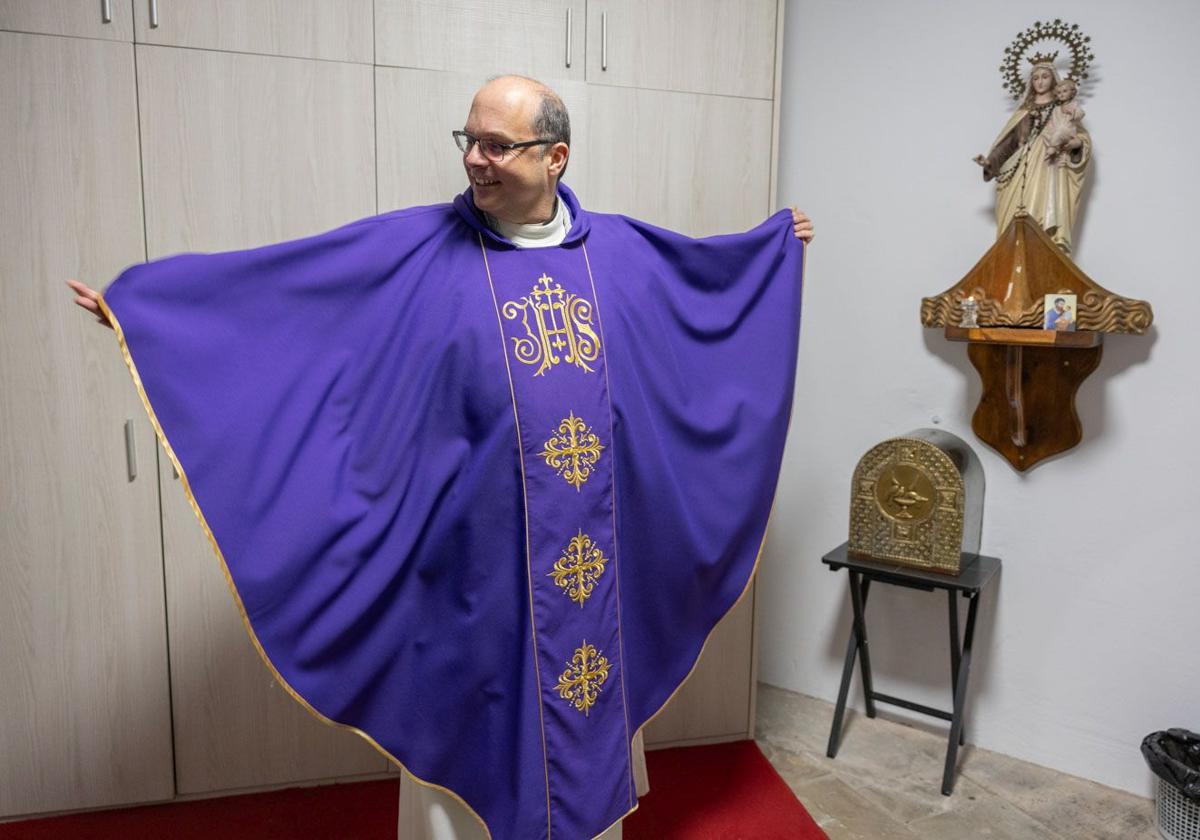
[[[1076,331],[1040,329],[1048,294],[1076,295]],[[959,326],[967,298],[978,328]],[[1153,318],[1146,301],[1080,271],[1025,214],[962,280],[920,304],[922,324],[970,342],[967,358],[983,383],[971,428],[1021,472],[1082,439],[1075,392],[1100,364],[1104,334],[1141,334]]]

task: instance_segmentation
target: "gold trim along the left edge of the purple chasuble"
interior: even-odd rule
[[[258,641],[258,634],[254,632],[254,626],[250,623],[250,616],[246,613],[246,606],[241,601],[241,593],[238,592],[238,584],[234,583],[233,575],[229,574],[229,565],[228,563],[226,563],[224,552],[221,550],[216,535],[209,527],[208,517],[204,516],[204,511],[200,509],[200,503],[196,499],[196,494],[192,492],[192,482],[187,478],[186,470],[184,470],[184,464],[179,462],[179,456],[175,455],[175,450],[170,445],[170,440],[167,439],[167,433],[163,431],[162,424],[158,422],[158,415],[155,413],[154,406],[150,403],[149,395],[146,395],[145,385],[142,382],[142,374],[138,373],[138,366],[133,361],[133,354],[130,353],[130,346],[125,341],[125,330],[121,329],[121,323],[120,320],[118,320],[116,314],[113,312],[112,308],[109,308],[108,301],[104,300],[103,293],[96,295],[96,302],[100,305],[100,310],[101,312],[104,313],[104,317],[108,318],[108,323],[113,325],[113,332],[116,335],[116,343],[121,348],[121,358],[125,360],[125,366],[128,368],[130,376],[133,378],[133,386],[137,389],[138,397],[142,400],[142,407],[145,409],[146,416],[150,419],[150,425],[154,427],[155,437],[158,438],[158,443],[162,446],[162,451],[167,454],[167,458],[170,461],[172,467],[175,468],[175,474],[179,475],[180,487],[184,491],[184,496],[187,497],[188,506],[191,506],[192,514],[196,515],[196,520],[200,524],[200,530],[204,532],[204,536],[208,538],[209,546],[212,548],[212,553],[216,554],[217,562],[221,564],[221,572],[222,575],[224,575],[226,586],[229,587],[229,594],[233,595],[234,606],[238,607],[238,614],[241,616],[241,623],[246,630],[246,635],[250,636],[250,641],[254,646],[254,650],[258,653],[259,659],[263,660],[263,665],[266,666],[266,670],[271,672],[271,676],[275,678],[275,682],[278,683],[280,686],[288,694],[288,696],[292,697],[292,700],[294,700],[295,702],[298,702],[301,706],[301,708],[304,708],[305,712],[311,714],[313,718],[316,718],[325,726],[332,726],[334,728],[337,730],[347,730],[348,732],[353,732],[359,738],[370,744],[372,749],[379,752],[379,755],[382,755],[384,758],[386,758],[392,764],[398,767],[404,773],[404,775],[407,775],[414,782],[416,782],[422,787],[428,787],[434,791],[442,791],[451,799],[457,802],[475,820],[475,822],[479,823],[480,828],[484,829],[484,834],[487,836],[487,840],[492,840],[492,830],[487,827],[487,823],[484,821],[484,817],[479,816],[475,809],[472,808],[466,799],[458,796],[458,793],[450,790],[445,785],[438,785],[432,781],[426,781],[425,779],[421,779],[419,775],[408,769],[404,762],[402,762],[400,758],[397,758],[386,749],[384,749],[384,746],[374,738],[372,738],[367,732],[360,730],[356,726],[352,726],[350,724],[343,724],[341,721],[334,720],[332,718],[328,718],[324,714],[322,714],[317,708],[312,706],[312,703],[305,700],[305,697],[299,691],[292,688],[290,683],[288,683],[288,680],[284,679],[283,674],[281,674],[278,670],[276,670],[275,664],[271,661],[271,658],[266,655],[266,649],[263,647],[263,643]],[[499,318],[499,314],[497,314],[497,318]],[[540,701],[540,694],[539,694],[539,701]],[[550,826],[548,769],[547,769],[547,782],[546,782],[546,824],[548,829]]]

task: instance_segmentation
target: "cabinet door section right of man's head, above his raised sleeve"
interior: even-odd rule
[[[692,236],[768,214],[772,103],[588,85],[592,210]]]

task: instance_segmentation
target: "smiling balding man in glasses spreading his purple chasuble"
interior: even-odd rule
[[[757,563],[812,226],[584,211],[532,79],[455,139],[452,206],[71,286],[268,665],[419,780],[412,829],[619,836],[636,734]]]

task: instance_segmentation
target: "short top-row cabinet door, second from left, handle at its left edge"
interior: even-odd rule
[[[138,43],[372,60],[371,0],[133,0],[133,11]]]

